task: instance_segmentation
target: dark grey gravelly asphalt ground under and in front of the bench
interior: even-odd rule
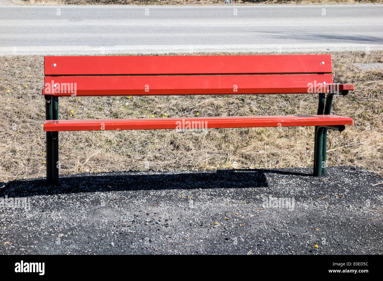
[[[383,185],[372,185],[383,178],[354,167],[310,173],[129,171],[65,176],[54,188],[44,179],[0,183],[0,197],[31,198],[30,210],[1,209],[0,253],[382,254]],[[291,205],[267,206],[269,196]]]

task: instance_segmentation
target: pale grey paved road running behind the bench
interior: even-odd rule
[[[0,6],[0,26],[0,55],[383,49],[383,5]]]

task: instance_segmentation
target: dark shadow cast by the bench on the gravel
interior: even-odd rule
[[[285,171],[283,171],[285,170]],[[84,173],[60,177],[60,186],[46,186],[45,178],[15,180],[0,189],[0,197],[32,197],[80,192],[129,190],[177,190],[206,188],[268,187],[267,173],[311,176],[311,172],[291,172],[272,169],[219,169],[171,172],[108,172]],[[145,173],[145,174],[144,174]]]

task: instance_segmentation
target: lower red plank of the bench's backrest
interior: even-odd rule
[[[327,91],[322,82],[332,83],[332,75],[46,76],[43,94],[133,96],[322,93]],[[56,88],[52,88],[52,85],[56,85]]]

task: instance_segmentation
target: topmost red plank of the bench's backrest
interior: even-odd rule
[[[331,73],[332,65],[331,55],[47,56],[44,69],[73,76]]]

